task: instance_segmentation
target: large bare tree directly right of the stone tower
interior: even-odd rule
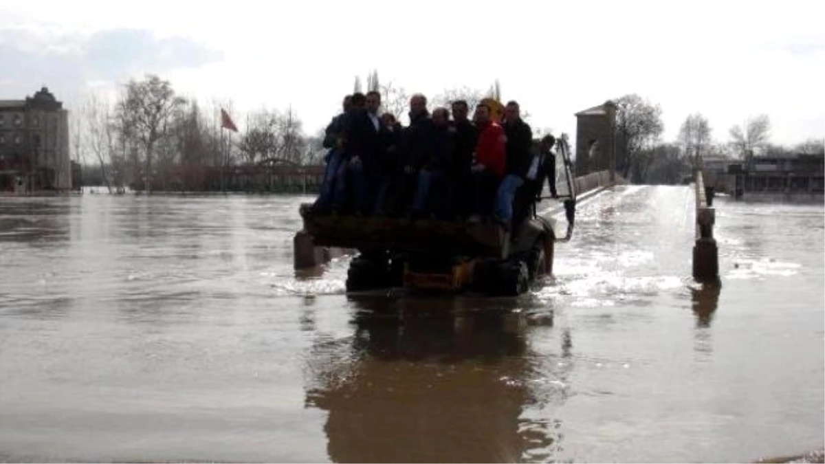
[[[653,148],[664,131],[662,108],[635,93],[615,99],[616,169],[624,178],[633,171],[636,182],[643,182],[650,159],[645,150]]]

